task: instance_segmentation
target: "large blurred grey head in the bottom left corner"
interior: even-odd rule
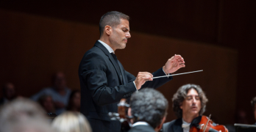
[[[26,98],[6,103],[0,109],[0,132],[50,130],[45,111],[40,105]]]

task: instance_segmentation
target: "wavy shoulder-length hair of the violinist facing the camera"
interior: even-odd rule
[[[189,89],[195,89],[196,92],[199,94],[199,98],[201,101],[201,109],[199,111],[199,115],[202,115],[205,112],[206,103],[208,99],[205,96],[205,92],[202,91],[202,88],[196,84],[185,84],[182,87],[179,87],[177,92],[174,94],[172,98],[173,102],[173,110],[175,115],[180,118],[182,117],[182,109],[180,109],[180,105],[182,104],[183,100],[186,98]]]

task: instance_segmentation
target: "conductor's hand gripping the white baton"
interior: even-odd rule
[[[135,79],[135,85],[137,89],[141,89],[141,85],[145,84],[146,81],[153,81],[152,73],[139,72]]]

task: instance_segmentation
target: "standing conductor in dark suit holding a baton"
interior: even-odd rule
[[[79,65],[81,86],[81,112],[90,122],[93,132],[120,132],[121,123],[110,120],[108,113],[117,112],[121,98],[129,98],[141,87],[157,88],[172,77],[166,76],[185,67],[182,56],[175,55],[154,73],[139,72],[135,77],[124,70],[115,56],[116,49],[123,49],[129,34],[129,16],[121,12],[107,12],[99,21],[100,38],[85,53]]]

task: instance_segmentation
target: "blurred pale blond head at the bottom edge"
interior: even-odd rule
[[[51,125],[61,132],[91,132],[90,123],[79,112],[65,111],[57,116]]]

